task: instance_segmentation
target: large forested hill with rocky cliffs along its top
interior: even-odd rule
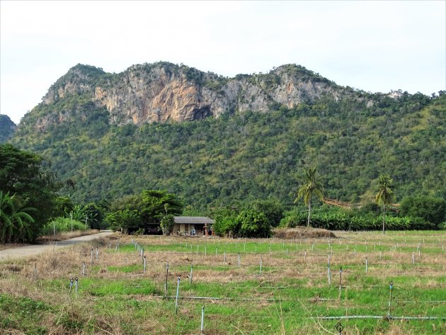
[[[72,178],[77,201],[163,188],[197,208],[294,199],[302,166],[326,195],[446,196],[446,94],[367,93],[288,64],[227,78],[166,62],[120,74],[78,64],[22,119],[11,142]]]

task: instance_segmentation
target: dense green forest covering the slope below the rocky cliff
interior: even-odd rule
[[[446,95],[376,94],[367,107],[362,94],[142,127],[110,125],[105,108],[72,95],[33,110],[67,111],[68,120],[45,132],[27,123],[12,142],[76,181],[76,202],[166,189],[195,208],[270,197],[291,205],[309,165],[318,166],[328,198],[372,201],[383,173],[394,180],[396,201],[446,197]]]

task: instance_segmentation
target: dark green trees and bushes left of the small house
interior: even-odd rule
[[[147,233],[151,225],[183,212],[176,195],[156,190],[75,204],[69,193],[76,187],[72,179],[59,181],[50,162],[37,154],[0,144],[0,243],[35,242],[41,234],[107,227]]]

